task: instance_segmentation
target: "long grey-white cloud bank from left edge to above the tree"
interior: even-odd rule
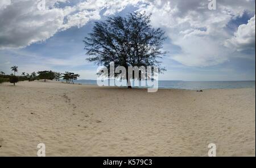
[[[138,1],[89,0],[74,6],[57,8],[56,3],[67,0],[46,1],[46,10],[38,9],[35,0],[2,1],[0,3],[0,49],[23,48],[34,42],[47,40],[56,32],[71,27],[82,27],[89,20],[114,14]]]

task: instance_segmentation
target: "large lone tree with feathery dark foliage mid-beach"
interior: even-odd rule
[[[84,40],[88,61],[104,65],[108,70],[110,62],[114,62],[115,67],[125,67],[127,83],[130,81],[128,66],[157,66],[159,72],[164,71],[160,68],[159,58],[165,54],[161,49],[166,37],[164,31],[150,25],[150,16],[134,12],[126,17],[116,16],[96,22],[92,33]]]

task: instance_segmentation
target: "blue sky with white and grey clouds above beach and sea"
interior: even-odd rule
[[[44,1],[46,8],[44,8]],[[255,0],[1,0],[0,70],[72,71],[96,79],[82,40],[94,21],[152,13],[166,31],[162,80],[255,80]]]

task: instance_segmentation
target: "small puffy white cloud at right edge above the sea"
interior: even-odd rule
[[[248,20],[247,24],[241,24],[234,36],[225,41],[225,45],[238,51],[255,50],[255,15]]]

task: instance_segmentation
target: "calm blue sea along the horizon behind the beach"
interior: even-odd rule
[[[85,85],[97,85],[96,80],[76,80],[76,83]],[[159,88],[172,89],[232,89],[232,88],[255,88],[255,81],[175,81],[159,80]]]

